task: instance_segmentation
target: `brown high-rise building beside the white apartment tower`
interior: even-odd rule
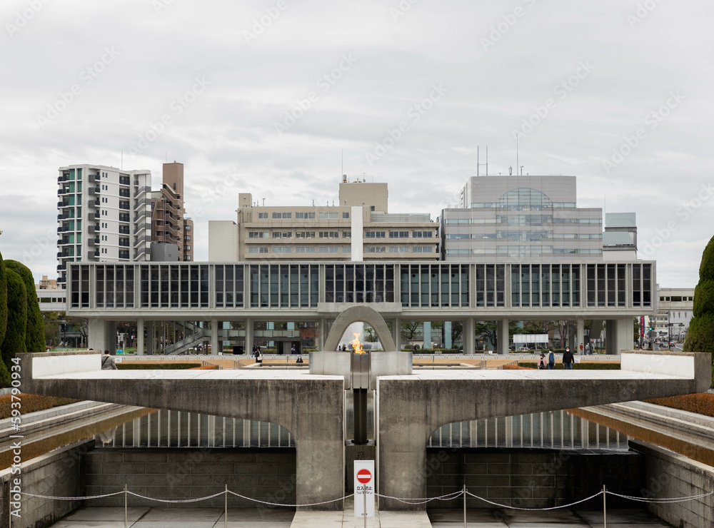
[[[164,163],[159,191],[151,193],[151,240],[174,244],[178,260],[193,260],[193,220],[183,206],[183,163]]]

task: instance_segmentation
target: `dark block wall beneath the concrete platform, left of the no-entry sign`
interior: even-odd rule
[[[122,449],[102,448],[86,454],[86,494],[118,492],[124,484],[135,493],[161,499],[191,499],[231,491],[267,502],[295,504],[295,450],[261,449]],[[223,507],[223,495],[171,507]],[[156,506],[129,496],[129,506]],[[123,506],[124,497],[87,501],[87,506]],[[260,507],[230,495],[228,506]]]

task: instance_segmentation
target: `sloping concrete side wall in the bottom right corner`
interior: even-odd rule
[[[714,467],[645,442],[630,440],[630,447],[646,457],[643,496],[690,497],[714,489]],[[650,503],[648,509],[680,528],[714,526],[714,495],[686,502]]]

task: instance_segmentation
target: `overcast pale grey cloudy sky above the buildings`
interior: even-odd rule
[[[238,192],[336,200],[389,184],[436,218],[489,173],[578,176],[635,211],[663,287],[714,233],[714,4],[704,0],[4,0],[0,250],[56,267],[57,168],[185,164],[196,260]],[[483,161],[483,160],[482,160]]]

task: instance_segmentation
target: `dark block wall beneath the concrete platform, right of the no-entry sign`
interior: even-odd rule
[[[456,492],[466,483],[479,497],[521,508],[575,502],[597,493],[603,484],[621,494],[638,495],[645,479],[645,457],[635,452],[429,449],[426,460],[426,497]],[[466,506],[493,508],[473,497]],[[463,499],[440,501],[439,507],[462,508]],[[603,499],[580,507],[602,509]],[[608,507],[633,504],[608,497]]]

